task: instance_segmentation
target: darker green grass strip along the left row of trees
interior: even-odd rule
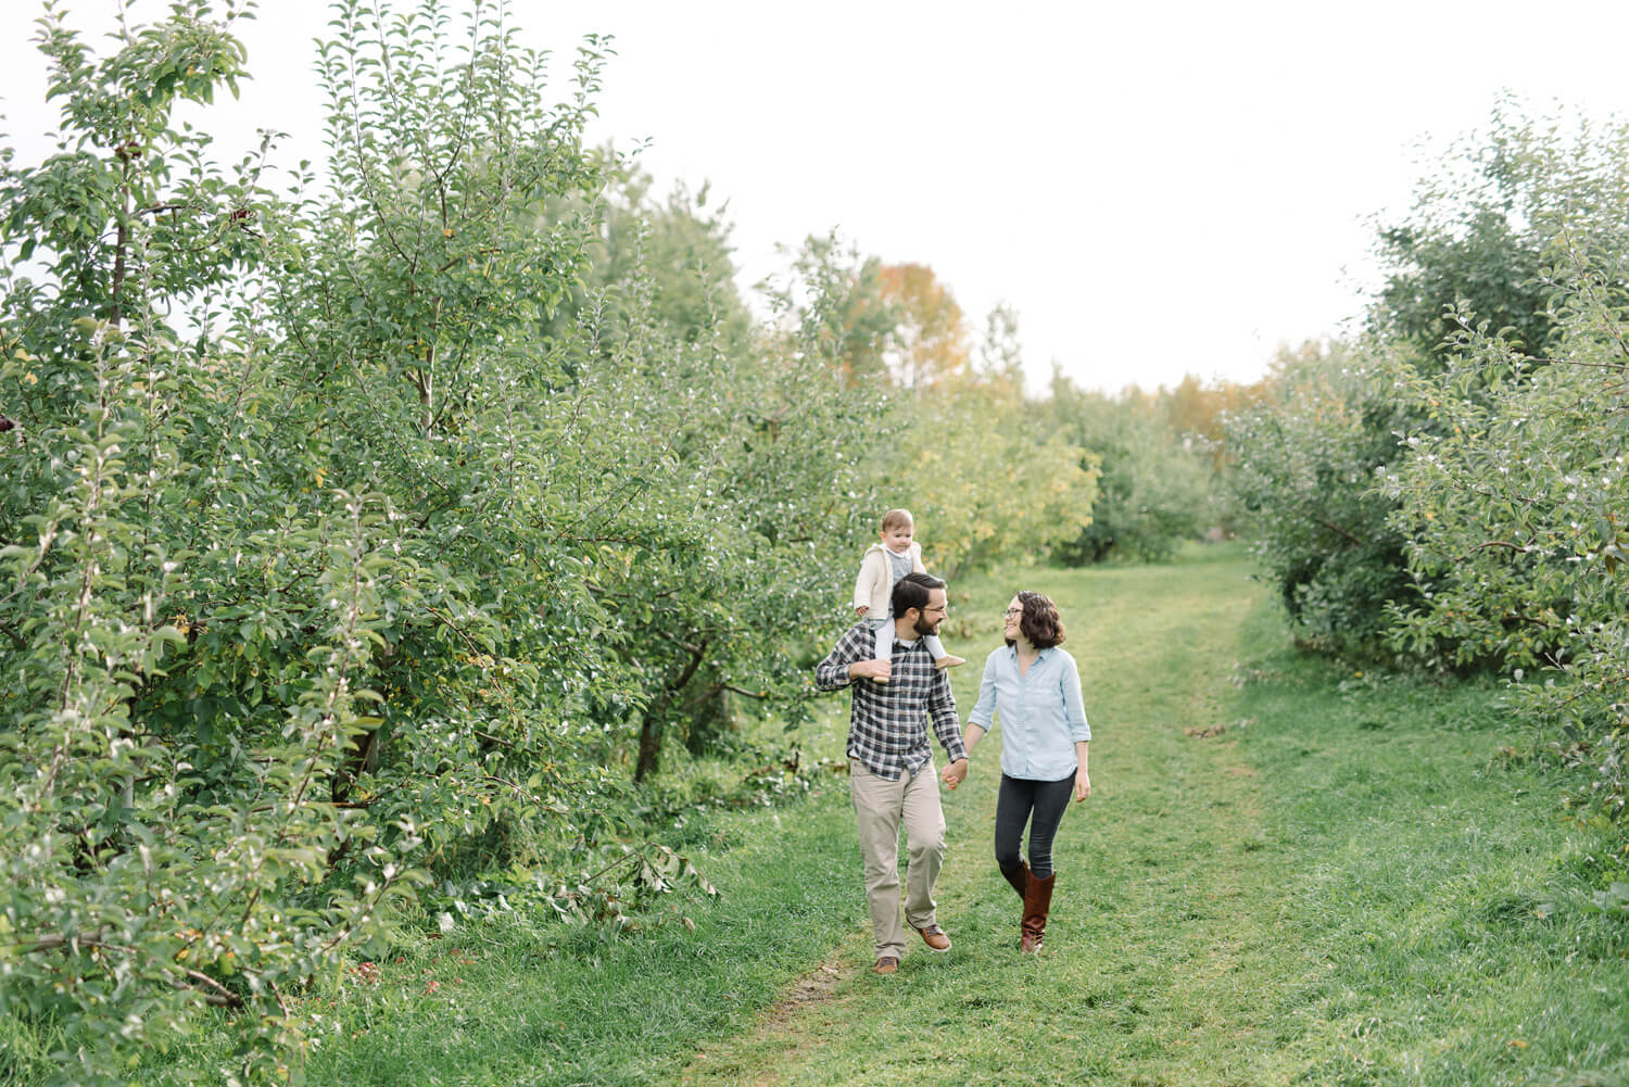
[[[751,1025],[854,926],[863,895],[832,779],[784,812],[725,820],[691,856],[717,901],[674,895],[640,935],[463,926],[404,944],[313,1002],[337,1043],[313,1084],[653,1084],[699,1043]],[[694,926],[694,931],[686,924]]]

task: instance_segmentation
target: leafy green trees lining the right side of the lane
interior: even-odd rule
[[[1290,360],[1228,429],[1308,640],[1504,673],[1600,820],[1629,789],[1624,223],[1629,125],[1502,104],[1381,233],[1372,336]]]

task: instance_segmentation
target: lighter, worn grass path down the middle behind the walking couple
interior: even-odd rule
[[[946,795],[938,887],[948,955],[868,971],[855,932],[805,992],[697,1054],[686,1084],[1261,1084],[1305,1054],[1274,1045],[1264,986],[1321,970],[1280,924],[1277,851],[1240,758],[1245,618],[1259,587],[1232,554],[1178,566],[1033,572],[1069,624],[1093,722],[1093,797],[1064,820],[1046,950],[1015,950],[1018,903],[990,859],[999,768],[986,748]],[[997,579],[999,580],[999,579]],[[1008,587],[956,603],[963,714]],[[963,636],[956,636],[958,631]],[[1215,730],[1199,738],[1189,730]],[[999,740],[997,732],[992,740]],[[858,913],[858,904],[857,904]],[[1285,970],[1289,963],[1289,970]]]

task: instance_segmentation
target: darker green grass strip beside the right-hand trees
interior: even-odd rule
[[[1293,865],[1279,909],[1323,966],[1276,1014],[1341,1040],[1306,1082],[1629,1082],[1629,931],[1587,909],[1624,860],[1562,825],[1554,771],[1500,758],[1497,689],[1266,671],[1246,751]]]

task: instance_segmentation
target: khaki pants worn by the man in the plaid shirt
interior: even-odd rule
[[[886,781],[849,761],[849,797],[865,860],[865,901],[872,908],[876,957],[901,957],[906,950],[899,924],[899,823],[906,825],[906,921],[925,929],[935,922],[933,883],[945,862],[945,810],[938,803],[933,763],[915,776]]]

